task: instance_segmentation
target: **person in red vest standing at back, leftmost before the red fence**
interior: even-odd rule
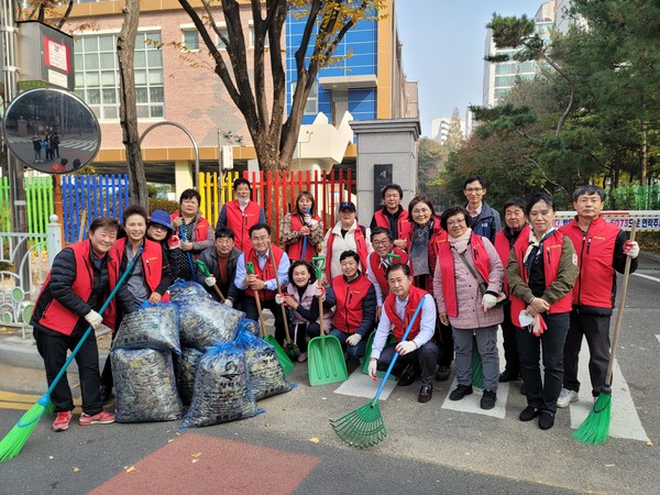
[[[266,223],[266,213],[260,205],[250,199],[250,180],[239,177],[234,180],[233,190],[237,199],[222,205],[216,229],[231,229],[235,235],[237,249],[246,253],[252,248],[250,229],[257,223]]]

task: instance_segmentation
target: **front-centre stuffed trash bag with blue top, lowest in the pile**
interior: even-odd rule
[[[197,364],[193,402],[182,428],[218,425],[258,413],[243,351],[233,342],[210,348]]]

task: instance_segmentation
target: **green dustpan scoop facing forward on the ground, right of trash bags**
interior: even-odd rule
[[[315,337],[307,345],[309,385],[327,385],[349,380],[341,342],[334,336]]]

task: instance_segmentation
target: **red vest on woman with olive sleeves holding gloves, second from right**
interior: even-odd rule
[[[546,272],[546,287],[549,287],[557,279],[557,272],[559,270],[559,262],[561,260],[561,250],[563,248],[563,238],[564,235],[554,231],[551,237],[543,241],[543,270]],[[516,253],[516,258],[518,260],[518,270],[520,271],[520,275],[522,276],[522,280],[528,280],[528,273],[525,264],[522,263],[522,258],[525,257],[525,253],[527,252],[527,248],[529,246],[529,235],[519,237],[516,243],[514,244],[514,252]],[[512,321],[516,327],[520,327],[520,319],[518,318],[520,311],[522,311],[527,305],[522,299],[518,299],[515,296],[509,296],[512,300]],[[573,294],[566,294],[564,297],[559,299],[552,306],[548,312],[569,312],[572,309],[573,302]]]

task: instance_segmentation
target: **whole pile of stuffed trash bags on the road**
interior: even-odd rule
[[[275,350],[245,314],[178,280],[170,302],[127,315],[110,352],[118,422],[183,428],[250,418],[256,402],[292,389]],[[188,406],[187,411],[185,406]]]

